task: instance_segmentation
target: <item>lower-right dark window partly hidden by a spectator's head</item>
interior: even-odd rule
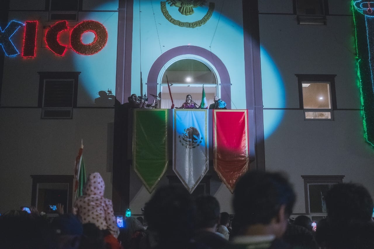
[[[341,184],[344,175],[302,175],[301,178],[304,179],[305,213],[317,221],[327,215],[325,194],[335,184]]]

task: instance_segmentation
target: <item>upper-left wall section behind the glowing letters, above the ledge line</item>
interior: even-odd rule
[[[10,1],[12,5],[12,1]],[[37,5],[36,5],[37,6]],[[64,56],[57,56],[45,43],[44,35],[56,21],[47,21],[48,12],[10,11],[9,20],[18,22],[38,20],[37,47],[34,58],[22,58],[21,54],[4,60],[4,76],[1,106],[35,107],[38,100],[38,71],[80,71],[77,106],[95,107],[95,98],[100,90],[116,88],[117,58],[117,9],[112,11],[79,12],[78,21],[68,21],[69,31],[59,35],[59,41],[68,46]],[[108,42],[95,55],[85,56],[74,52],[69,45],[69,34],[75,25],[84,20],[101,22],[108,32]],[[90,36],[90,34],[87,34]],[[20,27],[12,36],[15,47],[22,51],[24,28]],[[88,37],[89,39],[90,37]],[[91,33],[93,39],[93,33]],[[105,63],[102,63],[105,61]]]

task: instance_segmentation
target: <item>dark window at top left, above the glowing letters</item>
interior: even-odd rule
[[[78,20],[79,0],[46,0],[46,10],[49,11],[49,21]]]

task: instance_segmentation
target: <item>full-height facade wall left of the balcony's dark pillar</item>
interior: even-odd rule
[[[81,139],[85,145],[86,172],[101,173],[106,183],[104,196],[111,198],[114,108],[95,108],[94,100],[99,90],[109,88],[115,94],[117,8],[118,1],[83,1],[85,11],[78,13],[78,21],[68,21],[69,32],[59,36],[59,41],[68,46],[67,52],[57,56],[44,42],[46,29],[56,22],[48,21],[45,2],[10,1],[9,21],[38,20],[39,25],[35,58],[22,58],[20,54],[4,59],[0,102],[0,213],[30,206],[30,175],[73,175]],[[95,55],[79,55],[68,45],[69,34],[76,24],[89,19],[105,26],[108,42]],[[23,34],[24,27],[20,27],[12,36],[20,52]],[[40,119],[39,71],[81,72],[78,108],[73,110],[73,119]]]

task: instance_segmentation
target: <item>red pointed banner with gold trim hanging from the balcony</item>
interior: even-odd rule
[[[214,170],[231,193],[249,167],[248,110],[213,110]]]

